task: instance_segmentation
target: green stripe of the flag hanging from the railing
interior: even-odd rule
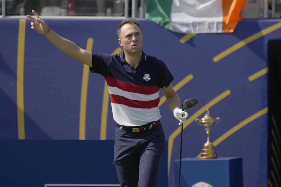
[[[145,0],[145,18],[167,30],[172,30],[170,20],[172,3],[173,0]]]

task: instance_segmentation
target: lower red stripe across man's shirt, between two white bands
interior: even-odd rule
[[[157,107],[160,102],[159,97],[151,101],[138,101],[114,94],[110,94],[110,99],[111,103],[126,105],[133,108],[154,108]]]

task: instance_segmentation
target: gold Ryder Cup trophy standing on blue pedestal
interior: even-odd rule
[[[215,152],[215,147],[213,146],[213,144],[210,142],[210,138],[209,138],[209,131],[211,130],[210,127],[212,127],[213,125],[217,124],[218,122],[220,122],[220,118],[212,118],[209,115],[209,109],[207,109],[207,113],[204,115],[203,118],[201,119],[196,119],[195,122],[198,125],[204,126],[206,127],[206,131],[207,131],[207,142],[204,143],[203,145],[203,149],[201,152],[201,157],[200,158],[217,158],[217,153]]]

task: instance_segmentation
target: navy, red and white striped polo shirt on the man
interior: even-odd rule
[[[112,56],[93,53],[90,71],[105,77],[116,123],[135,127],[161,118],[159,88],[174,79],[162,60],[142,52],[134,69],[126,62],[124,51]]]

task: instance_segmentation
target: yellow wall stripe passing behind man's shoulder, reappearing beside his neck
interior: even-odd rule
[[[111,55],[119,54],[121,53],[121,51],[122,51],[121,47],[117,47],[111,53]],[[102,98],[102,116],[100,122],[100,140],[106,140],[108,100],[109,100],[109,92],[107,89],[107,83],[106,81],[104,81],[103,98]]]

